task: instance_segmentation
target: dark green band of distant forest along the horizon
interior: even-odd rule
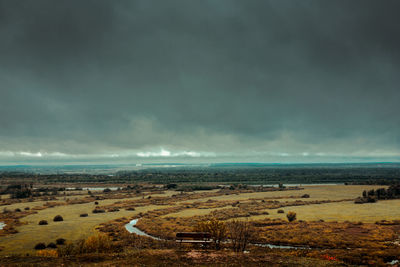
[[[22,179],[41,183],[241,183],[241,184],[393,184],[400,181],[400,168],[389,167],[199,167],[153,168],[119,171],[114,175],[0,173],[0,182]]]

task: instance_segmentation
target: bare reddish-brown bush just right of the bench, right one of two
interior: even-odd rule
[[[254,233],[251,223],[248,220],[233,220],[227,223],[227,228],[233,250],[236,252],[245,251]]]

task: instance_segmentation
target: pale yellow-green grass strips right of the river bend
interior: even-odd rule
[[[279,202],[293,201],[301,199],[304,194],[310,195],[306,201],[312,200],[346,200],[355,199],[359,197],[363,190],[371,190],[382,188],[385,186],[376,185],[318,185],[318,186],[303,186],[304,190],[293,191],[274,191],[274,192],[255,192],[222,195],[210,198],[195,199],[189,201],[182,201],[182,203],[193,203],[201,201],[240,201],[248,202],[250,200],[275,200]],[[292,198],[289,198],[292,197]],[[210,209],[185,209],[176,213],[164,215],[171,217],[190,217],[195,215],[206,215],[214,210],[222,208]],[[400,200],[381,200],[377,203],[365,203],[362,205],[355,205],[354,201],[343,201],[335,203],[322,203],[302,206],[290,206],[279,208],[283,209],[285,213],[277,213],[277,209],[265,209],[269,215],[256,215],[246,217],[246,219],[259,220],[259,219],[284,219],[286,220],[286,213],[294,211],[297,213],[297,219],[306,221],[354,221],[354,222],[376,222],[380,220],[400,220]]]

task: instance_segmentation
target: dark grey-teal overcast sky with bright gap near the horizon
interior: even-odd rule
[[[399,162],[399,10],[0,0],[0,165]]]

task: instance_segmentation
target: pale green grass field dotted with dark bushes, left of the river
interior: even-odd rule
[[[108,199],[99,201],[100,205],[109,205],[119,200]],[[36,204],[36,203],[34,203]],[[31,253],[33,247],[39,243],[55,242],[57,238],[65,238],[68,241],[76,241],[86,238],[96,232],[99,224],[121,217],[132,217],[140,212],[146,212],[159,208],[158,206],[138,207],[135,211],[120,210],[118,212],[92,213],[95,208],[93,202],[75,205],[63,205],[47,208],[29,215],[21,222],[24,225],[17,228],[18,233],[0,237],[0,246],[3,250],[0,254]],[[88,217],[80,217],[87,213]],[[64,221],[53,222],[56,215],[61,215]],[[38,225],[40,220],[47,220],[48,225]]]

